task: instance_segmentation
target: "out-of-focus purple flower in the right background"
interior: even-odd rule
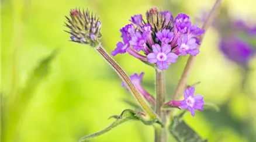
[[[221,9],[221,14],[216,17],[213,27],[220,34],[219,49],[230,61],[243,68],[248,68],[248,63],[256,53],[256,26],[250,26],[240,19],[233,19],[226,8]],[[202,20],[206,19],[204,13]]]

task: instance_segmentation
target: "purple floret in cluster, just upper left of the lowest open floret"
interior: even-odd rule
[[[144,36],[139,31],[130,40],[130,45],[133,46],[137,52],[140,52],[146,46],[147,36]]]

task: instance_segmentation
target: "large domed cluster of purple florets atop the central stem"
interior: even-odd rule
[[[134,15],[130,20],[133,24],[120,30],[123,41],[116,44],[111,52],[113,56],[128,52],[141,61],[157,65],[160,70],[167,70],[178,56],[199,54],[198,36],[204,30],[192,25],[188,15],[179,13],[174,19],[169,11],[151,8],[146,12],[146,19]]]

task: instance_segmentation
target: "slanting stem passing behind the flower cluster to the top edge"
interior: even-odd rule
[[[216,15],[216,12],[217,12],[217,10],[220,7],[221,1],[222,0],[216,0],[215,5],[213,5],[213,8],[210,11],[209,15],[207,16],[207,19],[206,19],[205,23],[203,23],[202,29],[204,29],[205,32],[209,28],[210,24],[212,24],[213,19],[214,19],[215,15]],[[204,36],[205,36],[205,34],[202,34],[199,37],[201,42],[202,42]],[[184,90],[184,88],[186,86],[186,81],[188,80],[188,76],[191,73],[192,66],[193,66],[193,64],[195,62],[195,58],[196,58],[196,56],[189,56],[189,59],[186,62],[185,69],[184,69],[184,71],[182,73],[181,79],[179,80],[178,86],[177,86],[177,88],[175,90],[175,93],[174,93],[174,96],[173,96],[173,100],[178,99],[179,94],[181,94],[182,90]]]

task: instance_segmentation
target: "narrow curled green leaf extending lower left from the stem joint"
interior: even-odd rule
[[[135,112],[132,109],[125,109],[120,116],[118,115],[113,115],[110,118],[115,118],[115,122],[113,122],[111,125],[109,125],[108,127],[106,127],[105,129],[93,133],[93,134],[89,134],[87,136],[82,137],[79,142],[82,141],[88,141],[89,139],[92,139],[94,137],[98,137],[101,136],[102,134],[105,134],[106,132],[109,132],[110,130],[112,130],[113,128],[115,128],[118,125],[121,125],[124,122],[127,122],[129,120],[141,120],[141,122],[143,122],[146,125],[152,125],[153,123],[155,123],[157,120],[150,120],[146,117],[146,113],[143,112]],[[159,123],[159,122],[158,122]]]

